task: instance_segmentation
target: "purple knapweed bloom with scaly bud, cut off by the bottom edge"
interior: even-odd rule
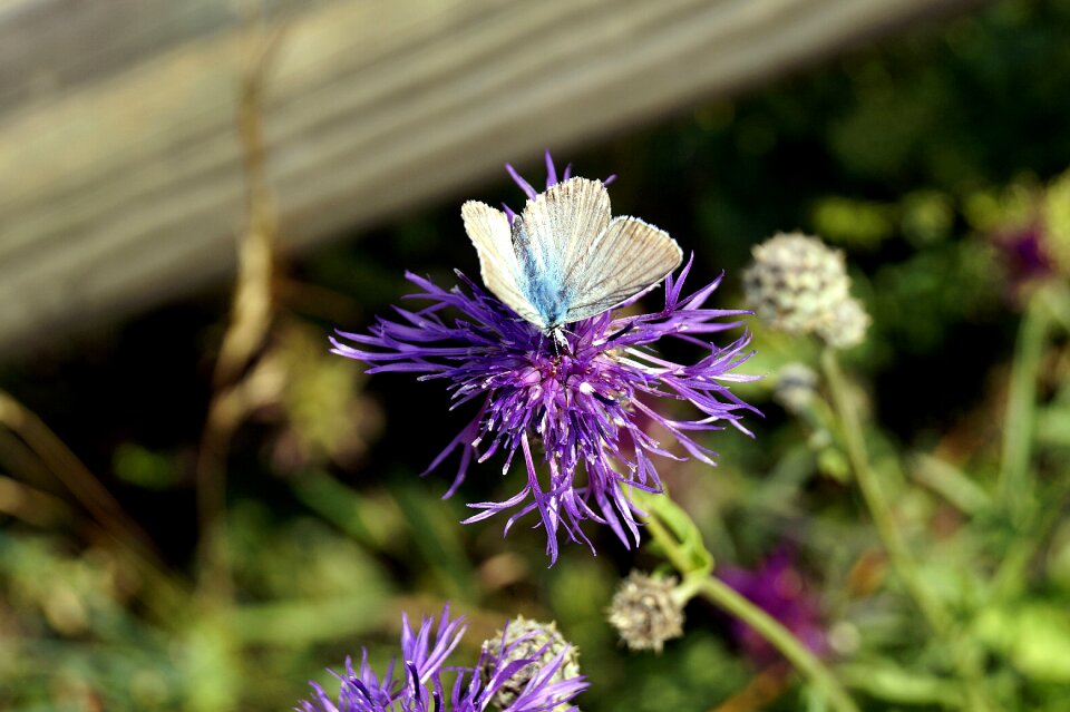
[[[546,643],[532,655],[518,655],[517,651],[531,648],[531,638],[541,632],[532,631],[508,640],[508,624],[499,644],[483,645],[474,666],[447,666],[447,659],[465,633],[464,618],[450,620],[447,606],[434,642],[432,623],[431,618],[424,618],[419,632],[414,634],[408,618],[402,618],[403,671],[397,677],[396,660],[379,677],[368,664],[364,650],[359,669],[347,660],[344,674],[334,673],[340,683],[337,696],[313,682],[310,683],[311,698],[294,709],[298,712],[484,712],[495,702],[500,712],[568,712],[575,710],[572,699],[587,687],[583,675],[563,679],[558,674],[572,653],[571,646],[546,655],[552,645]],[[480,671],[494,672],[487,675]],[[500,706],[500,692],[509,685],[509,702]]]

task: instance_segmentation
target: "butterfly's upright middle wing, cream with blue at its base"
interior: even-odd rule
[[[567,318],[576,275],[594,257],[591,242],[610,224],[610,196],[599,181],[570,178],[528,201],[513,223],[519,285],[544,328]]]

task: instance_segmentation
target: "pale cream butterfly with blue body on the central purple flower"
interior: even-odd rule
[[[563,342],[565,324],[596,316],[663,280],[683,252],[638,217],[611,217],[600,181],[568,178],[509,217],[478,201],[460,208],[483,283],[525,321]]]

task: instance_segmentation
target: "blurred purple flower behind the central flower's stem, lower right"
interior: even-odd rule
[[[828,653],[828,640],[817,602],[806,591],[788,547],[777,549],[755,570],[727,568],[721,579],[741,596],[776,618],[817,655]],[[752,627],[738,618],[731,622],[732,636],[758,665],[781,660],[780,653]]]

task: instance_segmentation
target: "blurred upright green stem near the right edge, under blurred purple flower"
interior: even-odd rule
[[[1050,323],[1051,311],[1047,294],[1041,289],[1029,300],[1018,333],[1003,422],[999,492],[1015,525],[1025,523],[1034,504],[1029,460],[1033,443],[1037,380]]]

